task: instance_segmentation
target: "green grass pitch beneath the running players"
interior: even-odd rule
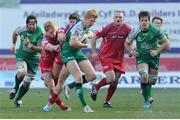
[[[8,89],[0,89],[0,119],[177,119],[180,118],[180,89],[153,89],[155,103],[151,109],[143,108],[143,98],[139,89],[119,88],[111,100],[113,108],[102,108],[107,89],[101,89],[97,101],[90,98],[90,90],[85,90],[85,98],[94,113],[83,113],[75,92],[70,100],[62,99],[71,106],[71,112],[64,112],[54,105],[51,112],[42,112],[47,103],[47,89],[30,89],[23,98],[22,108],[15,108],[8,98]]]

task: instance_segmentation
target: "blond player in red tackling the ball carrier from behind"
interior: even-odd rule
[[[56,93],[56,88],[53,80],[53,62],[56,55],[60,52],[61,46],[58,39],[56,39],[57,25],[53,21],[47,21],[44,23],[45,35],[42,40],[42,52],[40,57],[40,68],[42,73],[42,79],[46,86],[49,88],[51,94]],[[60,96],[57,97],[56,104],[64,111],[69,111],[70,108],[66,106],[61,100]],[[49,110],[43,109],[48,112]]]

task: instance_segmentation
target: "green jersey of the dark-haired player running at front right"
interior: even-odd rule
[[[148,31],[134,29],[128,36],[128,42],[136,40],[137,51],[140,54],[149,55],[150,50],[156,50],[162,42],[164,34],[155,25],[150,24]]]

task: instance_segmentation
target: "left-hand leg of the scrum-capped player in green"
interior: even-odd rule
[[[17,74],[15,76],[15,85],[13,89],[9,92],[9,99],[13,99],[19,90],[19,85],[24,79],[25,74],[27,73],[27,64],[25,61],[18,61],[16,63],[17,66]]]

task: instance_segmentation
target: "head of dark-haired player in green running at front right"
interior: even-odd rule
[[[150,24],[150,14],[148,11],[141,11],[139,13],[139,23],[143,31],[147,31]]]

